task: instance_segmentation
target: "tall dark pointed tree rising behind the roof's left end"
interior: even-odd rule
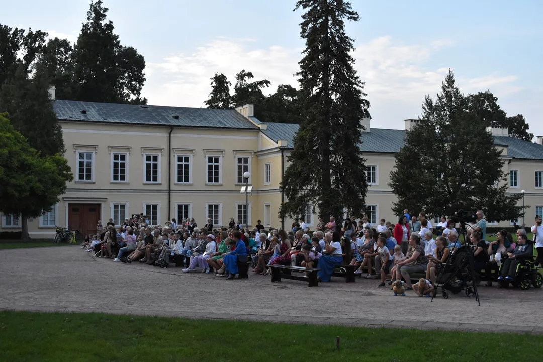
[[[145,60],[134,48],[121,45],[112,21],[106,21],[107,12],[102,0],[91,2],[72,52],[72,99],[145,104],[147,99],[141,98]]]

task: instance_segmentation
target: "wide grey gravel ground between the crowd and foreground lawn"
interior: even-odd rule
[[[227,281],[180,268],[113,263],[77,246],[0,250],[0,310],[543,333],[543,288],[480,287],[479,307],[463,293],[433,301],[413,291],[394,297],[363,278],[332,278],[308,288],[249,274],[248,280]]]

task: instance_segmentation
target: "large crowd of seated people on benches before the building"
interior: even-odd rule
[[[543,234],[538,218],[533,231]],[[380,280],[378,287],[385,287],[387,281],[390,285],[404,280],[411,290],[412,279],[424,275],[419,283],[435,285],[437,276],[461,246],[451,220],[441,218],[434,230],[424,213],[409,215],[407,211],[395,225],[381,219],[376,227],[367,218],[347,218],[342,224],[336,224],[334,218],[325,224],[319,218],[313,232],[302,220],[296,220],[293,230],[288,231],[265,230],[260,220],[251,230],[233,219],[229,227],[222,228],[214,227],[211,219],[206,221],[201,228],[194,219],[179,223],[172,219],[163,226],[150,226],[146,215],[140,214],[116,228],[110,219],[105,227],[98,223],[97,235],[87,237],[82,248],[99,258],[126,264],[169,266],[174,259],[175,264],[181,260],[186,266],[182,272],[213,272],[226,279],[238,274],[240,260],[248,261],[258,275],[269,275],[273,265],[317,268],[318,279],[323,282],[330,281],[337,268],[351,265],[357,267],[355,274],[365,272],[365,278]],[[532,258],[534,246],[523,229],[517,230],[516,244],[506,230],[497,233],[496,241],[485,242],[481,211],[469,228],[477,283],[483,270],[488,280],[485,285],[492,285],[493,279],[511,280],[517,264]],[[535,247],[541,247],[539,244]]]

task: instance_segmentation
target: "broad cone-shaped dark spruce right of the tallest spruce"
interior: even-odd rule
[[[492,221],[521,215],[517,202],[522,195],[507,194],[501,151],[468,103],[451,71],[437,98],[426,96],[390,173],[397,214],[405,208],[433,215],[482,209]]]

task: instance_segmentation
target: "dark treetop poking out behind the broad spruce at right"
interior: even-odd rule
[[[468,110],[475,112],[477,118],[485,126],[507,127],[509,136],[532,142],[534,134],[528,132],[530,126],[524,116],[516,115],[508,117],[507,113],[498,105],[498,97],[490,91],[468,94]]]

